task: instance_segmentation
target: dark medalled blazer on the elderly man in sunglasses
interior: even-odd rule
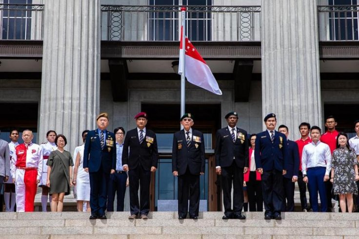
[[[179,176],[183,175],[186,173],[187,166],[192,175],[199,175],[205,170],[203,134],[194,129],[189,147],[183,129],[173,135],[172,172],[178,171]]]

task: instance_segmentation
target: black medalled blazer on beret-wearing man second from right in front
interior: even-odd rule
[[[216,134],[215,157],[216,166],[229,167],[235,158],[238,167],[248,167],[247,132],[237,127],[236,141],[233,142],[228,127],[219,129]]]

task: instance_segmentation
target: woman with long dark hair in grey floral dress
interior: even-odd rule
[[[348,212],[353,211],[353,194],[358,194],[357,180],[359,180],[357,156],[348,144],[348,136],[341,132],[337,137],[337,149],[333,151],[330,181],[333,183],[334,195],[339,195],[342,212],[346,212],[346,204]]]

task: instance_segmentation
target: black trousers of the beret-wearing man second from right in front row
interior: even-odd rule
[[[243,209],[243,168],[237,167],[236,162],[229,167],[221,168],[224,215],[232,217],[240,214]],[[233,210],[232,210],[232,183],[233,183]]]

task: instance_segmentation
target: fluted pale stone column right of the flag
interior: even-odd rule
[[[261,8],[262,114],[275,113],[298,139],[300,122],[322,122],[316,1],[262,0]]]

